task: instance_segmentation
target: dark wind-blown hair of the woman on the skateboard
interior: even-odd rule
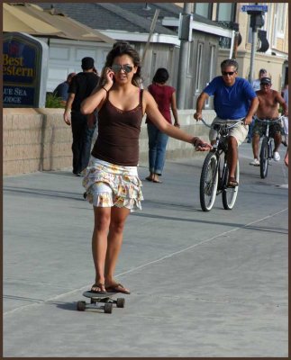
[[[100,85],[105,85],[105,68],[112,67],[114,63],[114,58],[128,55],[132,58],[132,62],[135,67],[137,67],[137,72],[132,77],[132,85],[140,86],[141,85],[141,58],[139,53],[132,48],[132,46],[127,41],[117,41],[114,43],[113,48],[108,52],[105,67],[102,69],[101,78],[99,81]]]

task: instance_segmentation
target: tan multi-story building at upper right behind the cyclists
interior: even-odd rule
[[[224,24],[238,33],[238,41],[233,49],[232,58],[239,62],[239,75],[250,78],[252,30],[250,15],[242,11],[243,5],[252,3],[194,3],[193,12],[214,22]],[[263,25],[258,28],[255,44],[253,78],[258,78],[259,69],[266,68],[272,78],[273,88],[280,90],[288,83],[288,3],[258,3],[267,5],[262,15]],[[183,6],[183,4],[180,4]],[[216,61],[216,74],[220,74],[220,63],[228,58],[231,48],[230,39],[221,38]]]

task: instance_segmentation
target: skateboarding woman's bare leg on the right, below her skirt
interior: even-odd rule
[[[129,209],[113,207],[111,209],[111,222],[107,241],[105,261],[105,284],[114,284],[114,271],[117,259],[123,244],[123,229],[125,220],[130,213]]]

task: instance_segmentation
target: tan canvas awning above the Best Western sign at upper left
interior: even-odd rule
[[[72,40],[107,42],[114,39],[78,23],[64,14],[45,11],[36,4],[3,4],[3,31],[20,31],[30,35]]]

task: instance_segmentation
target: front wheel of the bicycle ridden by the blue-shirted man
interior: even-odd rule
[[[210,211],[214,206],[217,184],[217,156],[210,152],[205,157],[200,176],[200,204],[203,211]]]

